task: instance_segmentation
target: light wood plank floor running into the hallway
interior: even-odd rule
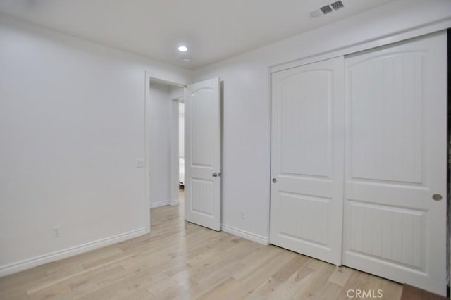
[[[0,299],[347,299],[348,289],[402,285],[263,246],[155,208],[152,232],[0,278]]]

